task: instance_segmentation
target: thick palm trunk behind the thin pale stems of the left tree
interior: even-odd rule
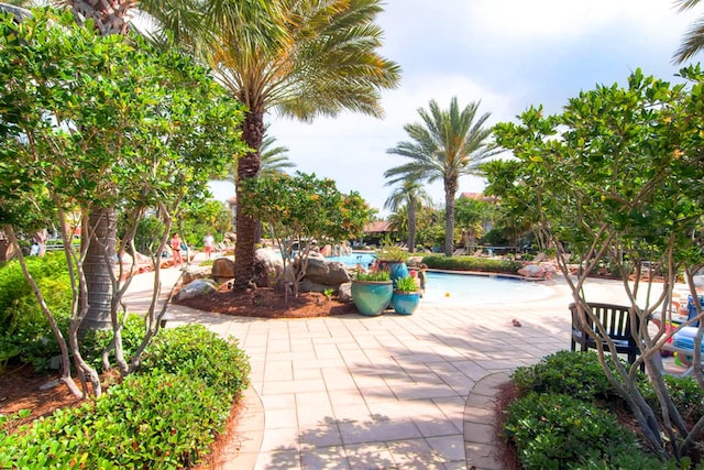
[[[110,270],[117,240],[117,211],[114,208],[94,207],[84,223],[81,250],[86,249],[84,271],[88,287],[88,313],[80,325],[82,331],[112,328],[110,304],[112,282]]]

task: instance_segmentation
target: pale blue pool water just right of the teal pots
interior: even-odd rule
[[[547,298],[552,289],[537,282],[501,276],[428,272],[424,304],[515,304]]]

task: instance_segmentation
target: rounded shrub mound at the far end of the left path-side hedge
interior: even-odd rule
[[[244,351],[237,341],[230,345],[202,325],[162,330],[144,354],[142,368],[189,373],[235,396],[249,386],[250,363]]]

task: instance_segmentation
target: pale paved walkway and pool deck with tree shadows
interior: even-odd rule
[[[177,270],[162,274],[172,285]],[[239,455],[220,468],[499,469],[495,386],[570,347],[571,293],[561,277],[550,286],[541,300],[421,303],[411,316],[270,320],[172,305],[168,326],[206,325],[251,358]],[[614,281],[587,286],[594,302],[624,302],[622,291]],[[132,308],[139,297],[128,296]]]

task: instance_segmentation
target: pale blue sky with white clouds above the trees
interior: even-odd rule
[[[419,122],[430,100],[442,109],[453,96],[462,108],[479,101],[493,125],[531,106],[559,113],[580,91],[623,85],[637,68],[674,81],[681,65],[671,57],[698,15],[704,6],[681,13],[672,0],[386,0],[380,53],[400,65],[402,80],[382,92],[385,118],[348,111],[301,123],[272,111],[266,120],[294,170],[332,178],[386,216],[393,187],[384,172],[406,162],[386,151],[409,140],[404,125]],[[459,193],[484,186],[462,177]],[[443,204],[442,183],[426,190]],[[220,184],[213,194],[226,199],[234,187]]]

